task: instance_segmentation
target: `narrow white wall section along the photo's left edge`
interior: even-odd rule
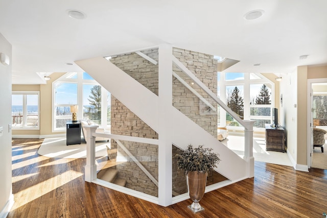
[[[5,53],[11,60],[11,44],[0,33],[0,53]],[[0,63],[0,217],[4,217],[13,203],[11,183],[11,63]]]

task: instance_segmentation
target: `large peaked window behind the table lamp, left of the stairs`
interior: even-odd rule
[[[104,127],[108,125],[110,93],[86,72],[65,74],[53,83],[53,93],[53,132],[66,130],[66,122],[72,120],[71,105],[78,105],[77,119],[90,119]]]

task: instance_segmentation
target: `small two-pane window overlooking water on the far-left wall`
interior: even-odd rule
[[[13,129],[39,129],[39,91],[13,91],[11,117]]]

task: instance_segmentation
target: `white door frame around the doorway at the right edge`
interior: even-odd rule
[[[311,89],[312,89],[312,84],[313,83],[327,83],[327,78],[319,78],[319,79],[308,79],[308,85],[307,85],[307,164],[308,168],[311,168],[311,136],[312,136],[312,131],[311,131],[311,126],[310,124],[312,123],[311,120],[311,108],[312,108],[312,100],[311,100]],[[313,125],[313,124],[311,124]]]

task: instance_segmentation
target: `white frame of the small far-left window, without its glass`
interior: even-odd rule
[[[24,126],[11,126],[13,130],[40,130],[40,91],[12,91],[11,94],[21,94],[23,95],[23,105],[22,105],[22,116],[23,120],[27,120],[27,101],[26,95],[37,94],[37,126],[25,126],[26,122],[23,122]],[[11,103],[12,105],[12,103]]]

